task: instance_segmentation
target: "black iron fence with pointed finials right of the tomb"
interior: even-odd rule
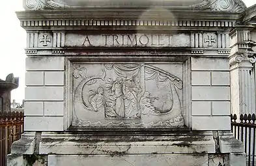
[[[244,143],[244,151],[246,152],[246,158],[248,165],[255,165],[255,131],[256,131],[256,115],[241,114],[231,115],[231,131],[236,139]]]

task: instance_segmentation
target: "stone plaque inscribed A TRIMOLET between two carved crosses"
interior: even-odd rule
[[[75,39],[75,40],[74,40]],[[190,35],[124,34],[124,35],[81,35],[66,34],[67,47],[152,47],[152,48],[188,48]]]

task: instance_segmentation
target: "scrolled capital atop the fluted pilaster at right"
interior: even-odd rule
[[[238,51],[235,53],[235,55],[230,56],[231,58],[229,59],[229,64],[230,66],[233,66],[241,62],[255,63],[256,57],[254,54],[256,54],[255,51]]]

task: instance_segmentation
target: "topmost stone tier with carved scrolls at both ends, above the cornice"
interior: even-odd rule
[[[75,5],[72,5],[75,4]],[[84,1],[78,3],[56,3],[55,0],[23,0],[25,10],[58,10],[70,8],[86,8],[86,7],[126,7],[126,8],[152,8],[165,7],[168,9],[184,9],[184,10],[212,10],[223,12],[243,12],[246,5],[242,0],[201,0],[191,1],[188,5],[177,5],[173,1]],[[175,5],[176,4],[176,5]],[[193,4],[193,5],[192,5]]]

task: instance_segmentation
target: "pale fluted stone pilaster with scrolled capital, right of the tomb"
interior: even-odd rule
[[[255,52],[244,51],[232,55],[231,67],[231,113],[255,113]]]

